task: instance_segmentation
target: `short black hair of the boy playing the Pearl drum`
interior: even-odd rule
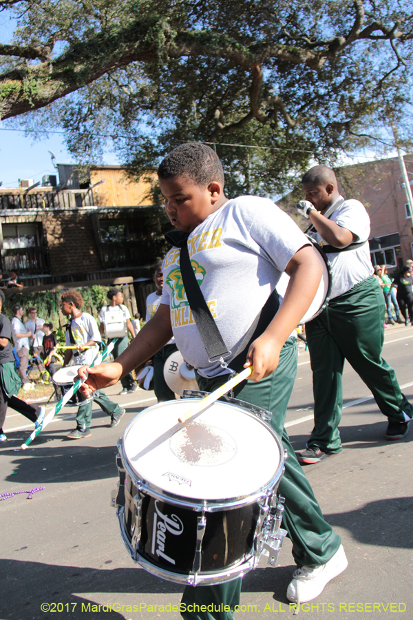
[[[206,144],[190,142],[173,149],[158,167],[158,177],[187,176],[200,187],[219,181],[224,187],[224,170],[220,158]]]

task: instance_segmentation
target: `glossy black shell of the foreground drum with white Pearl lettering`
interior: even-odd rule
[[[125,530],[129,541],[137,526],[134,496],[138,490],[129,476],[125,484]],[[198,517],[202,513],[142,493],[138,553],[153,566],[188,575],[193,570]],[[260,506],[257,502],[205,513],[201,575],[239,564],[251,553]],[[160,524],[160,525],[159,525]],[[154,531],[155,530],[155,531]]]

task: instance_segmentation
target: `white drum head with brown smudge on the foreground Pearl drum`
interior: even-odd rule
[[[123,437],[136,477],[191,499],[246,497],[273,479],[281,455],[275,436],[240,406],[215,402],[180,424],[196,399],[162,402],[131,421]]]

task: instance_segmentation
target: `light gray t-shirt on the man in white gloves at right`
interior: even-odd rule
[[[337,198],[343,200],[342,196]],[[334,205],[332,205],[334,206]],[[357,238],[354,242],[366,241],[370,235],[370,218],[359,200],[344,200],[329,218],[339,226],[350,230]],[[309,232],[319,245],[327,245],[317,232]],[[354,250],[327,254],[332,267],[331,299],[350,291],[358,282],[372,276],[373,267],[368,242]]]

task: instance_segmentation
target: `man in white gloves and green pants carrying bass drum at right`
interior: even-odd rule
[[[342,453],[339,423],[343,406],[343,366],[348,360],[388,417],[385,439],[405,437],[413,406],[401,392],[396,373],[381,357],[385,301],[373,276],[368,237],[370,218],[359,200],[340,196],[332,169],[314,166],[302,180],[306,201],[298,209],[311,221],[307,233],[326,252],[332,267],[330,302],[306,324],[313,371],[314,428],[301,464]]]

